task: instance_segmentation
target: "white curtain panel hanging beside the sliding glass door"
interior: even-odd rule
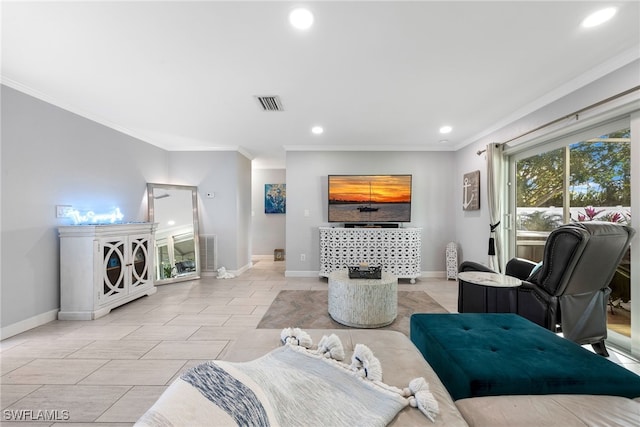
[[[489,205],[489,267],[504,271],[502,245],[504,242],[504,196],[506,195],[506,161],[501,144],[487,145],[487,201]]]

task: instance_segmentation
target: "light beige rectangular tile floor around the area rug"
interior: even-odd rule
[[[234,279],[159,286],[100,319],[54,321],[3,340],[0,424],[130,426],[184,369],[224,358],[280,290],[326,287],[326,279],[285,278],[283,262],[259,260]],[[399,290],[426,291],[457,310],[453,281],[401,281]],[[640,374],[640,363],[610,353]],[[53,421],[17,422],[19,416]]]

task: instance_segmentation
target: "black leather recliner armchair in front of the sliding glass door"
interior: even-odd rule
[[[553,230],[535,271],[537,264],[528,260],[507,263],[505,273],[523,281],[516,294],[517,314],[608,356],[609,283],[634,234],[631,227],[596,221]],[[460,271],[472,270],[488,271],[474,262],[460,265]]]

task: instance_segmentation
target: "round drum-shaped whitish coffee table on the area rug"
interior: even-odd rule
[[[380,328],[398,315],[398,278],[350,279],[348,270],[329,273],[329,315],[352,328]]]

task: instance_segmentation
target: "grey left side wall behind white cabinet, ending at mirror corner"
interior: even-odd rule
[[[167,152],[2,86],[0,325],[55,318],[60,306],[56,205],[144,221],[146,183]],[[40,319],[40,320],[38,320]],[[19,326],[17,326],[19,327]]]

